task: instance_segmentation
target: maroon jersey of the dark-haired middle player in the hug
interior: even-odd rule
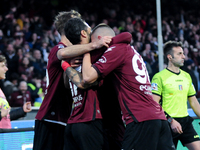
[[[81,66],[76,69],[80,72]],[[80,89],[70,81],[70,88],[73,104],[72,113],[67,121],[68,124],[102,119],[97,98],[98,87],[95,86],[86,90]]]

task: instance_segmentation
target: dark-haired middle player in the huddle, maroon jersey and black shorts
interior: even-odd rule
[[[75,44],[90,41],[91,28],[79,18],[70,19],[65,26],[65,35]],[[65,70],[65,62],[62,67]],[[81,66],[75,68],[81,72]],[[97,97],[97,88],[81,89],[70,81],[73,98],[71,115],[65,129],[65,150],[101,150],[103,147],[102,115]]]

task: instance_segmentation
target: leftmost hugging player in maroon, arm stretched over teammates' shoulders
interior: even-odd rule
[[[48,56],[47,89],[36,115],[34,150],[63,150],[64,147],[64,130],[71,112],[72,98],[70,90],[64,86],[61,60],[80,56],[105,45],[103,39],[71,48],[72,44],[64,34],[64,26],[73,17],[80,17],[80,14],[72,10],[60,12],[55,18],[55,27],[61,35],[61,41],[52,48]]]

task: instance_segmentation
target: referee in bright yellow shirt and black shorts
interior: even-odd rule
[[[158,103],[161,101],[162,108],[168,114],[175,146],[180,140],[188,149],[199,150],[200,139],[192,125],[193,118],[188,114],[187,100],[199,118],[200,105],[190,75],[180,69],[185,58],[182,44],[166,42],[164,56],[168,65],[152,78],[153,98]]]

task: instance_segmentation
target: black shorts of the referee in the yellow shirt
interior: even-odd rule
[[[182,134],[173,133],[172,131],[173,141],[174,141],[175,146],[177,146],[178,140],[181,141],[183,146],[185,146],[185,144],[189,144],[194,141],[200,140],[199,135],[197,134],[197,132],[195,131],[192,125],[192,122],[194,120],[192,117],[187,116],[184,118],[174,118],[174,119],[181,124],[182,130],[183,130]]]

